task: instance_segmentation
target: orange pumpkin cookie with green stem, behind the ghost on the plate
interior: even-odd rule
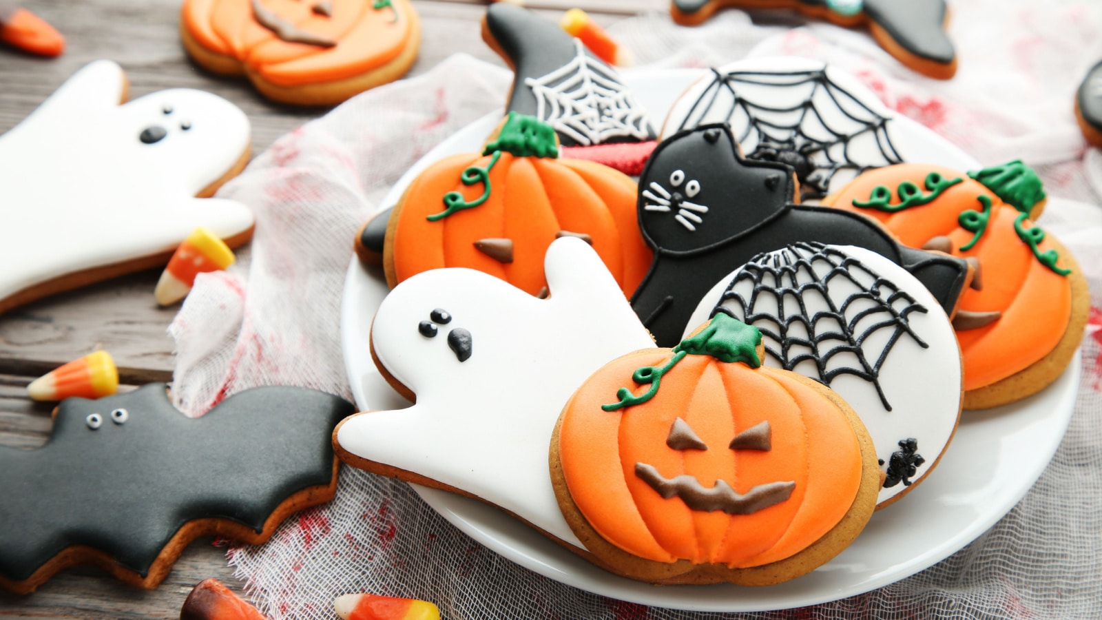
[[[407,189],[387,227],[387,284],[468,267],[539,295],[548,246],[573,235],[593,246],[631,295],[650,268],[651,250],[639,232],[629,177],[557,159],[554,130],[515,113],[484,152],[449,157]]]

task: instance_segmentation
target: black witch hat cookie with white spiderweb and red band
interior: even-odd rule
[[[551,125],[564,157],[631,175],[642,170],[655,132],[615,68],[558,24],[508,2],[487,8],[483,39],[516,71],[506,111]]]

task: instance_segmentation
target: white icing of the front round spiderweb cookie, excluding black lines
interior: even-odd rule
[[[839,250],[858,261],[869,271],[875,272],[879,280],[863,270],[852,267],[846,269],[846,272],[861,282],[866,291],[875,288],[878,290],[879,299],[892,301],[890,306],[897,312],[903,312],[910,304],[920,306],[926,310],[925,312],[910,311],[905,317],[910,329],[922,342],[929,345],[928,348],[922,348],[909,334],[898,333],[894,329],[879,329],[866,333],[869,332],[868,328],[873,324],[890,317],[884,312],[865,314],[853,324],[853,333],[858,336],[865,334],[866,339],[861,343],[861,349],[869,364],[875,365],[893,335],[897,338],[885,354],[877,377],[877,383],[892,410],[885,408],[884,402],[872,382],[845,373],[836,374],[830,382],[830,387],[838,392],[865,423],[865,427],[873,438],[873,443],[876,446],[877,458],[884,461],[880,466],[882,471],[887,471],[892,453],[900,451],[899,440],[908,438],[918,440],[916,452],[921,455],[926,462],[918,466],[915,475],[910,477],[911,484],[914,484],[929,473],[934,461],[948,447],[960,417],[961,356],[952,324],[929,290],[898,265],[864,248],[853,246],[827,246],[827,248]],[[806,249],[793,250],[790,246],[761,257],[755,257],[752,263],[785,265],[792,263],[792,257],[797,254],[807,258],[812,253]],[[820,277],[832,271],[825,260],[814,260],[813,265]],[[685,325],[685,335],[709,320],[713,310],[721,303],[724,291],[728,290],[733,281],[736,282],[734,291],[743,300],[750,300],[752,289],[755,286],[754,279],[744,277],[736,280],[736,276],[744,269],[746,269],[745,266],[736,269],[704,296],[689,320],[689,324]],[[756,274],[757,271],[752,269],[748,272]],[[757,278],[759,289],[774,289],[777,286],[776,278],[769,271],[757,272]],[[813,278],[808,275],[807,270],[801,270],[798,281],[803,284],[813,281]],[[858,292],[858,287],[838,271],[834,271],[825,281],[829,289],[828,297],[836,308],[842,308],[842,301]],[[791,286],[791,282],[786,281],[784,286]],[[899,296],[893,297],[893,292],[897,290],[910,296],[910,300]],[[770,330],[774,333],[780,331],[776,321],[780,310],[777,296],[773,292],[760,290],[754,306],[748,309],[744,309],[743,304],[734,299],[722,301],[722,307],[739,320],[743,320],[747,313],[767,316],[768,319],[756,320],[753,324],[763,331]],[[844,316],[852,320],[860,312],[871,308],[873,308],[871,301],[852,301],[851,306],[845,308]],[[804,295],[796,295],[795,292],[784,295],[784,316],[789,321],[788,336],[790,338],[793,335],[809,336],[806,331],[801,330],[801,322],[791,320],[793,316],[811,318],[829,311],[831,308],[827,297],[813,291]],[[821,314],[814,324],[815,334],[820,335],[818,352],[803,344],[793,343],[787,353],[788,360],[795,360],[803,353],[827,357],[823,353],[834,349],[841,340],[833,338],[821,340],[821,335],[828,332],[849,331],[845,325]],[[780,344],[773,338],[765,335],[765,345],[767,354],[764,363],[767,366],[784,367],[779,360],[771,352],[768,352],[770,349],[782,351]],[[841,367],[860,368],[861,362],[856,354],[849,351],[829,356],[828,372]],[[804,360],[791,370],[817,381],[821,380],[819,368],[813,361]],[[884,504],[908,488],[903,482],[890,488],[883,488],[877,503]]]

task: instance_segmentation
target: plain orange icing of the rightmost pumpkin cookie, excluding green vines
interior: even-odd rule
[[[889,204],[898,204],[897,188],[909,181],[923,192],[928,173],[938,172],[944,179],[962,179],[928,204],[896,213],[853,206],[867,202],[874,188],[892,192]],[[975,233],[964,229],[960,214],[983,211],[977,196],[991,200],[991,215],[980,239],[961,252]],[[827,200],[828,204],[875,217],[892,231],[904,245],[921,247],[931,237],[947,236],[952,240],[953,255],[980,260],[981,290],[968,290],[960,310],[1002,312],[993,323],[974,330],[957,332],[964,362],[964,389],[976,389],[1004,380],[1044,359],[1063,338],[1071,320],[1071,284],[1068,278],[1042,265],[1014,229],[1018,211],[1003,203],[981,183],[962,172],[930,164],[899,164],[866,172],[841,192]],[[1026,220],[1026,228],[1034,224]],[[1044,253],[1052,248],[1048,239],[1038,245]],[[1066,267],[1060,258],[1057,266]]]

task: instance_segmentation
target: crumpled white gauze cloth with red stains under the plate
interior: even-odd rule
[[[1102,57],[1102,6],[951,2],[960,71],[949,82],[901,67],[862,31],[785,13],[723,11],[698,29],[662,13],[611,29],[641,65],[714,66],[799,54],[856,74],[889,107],[984,164],[1024,159],[1050,201],[1040,224],[1077,256],[1092,290],[1076,413],[1051,464],[1002,521],[961,552],[879,590],[801,618],[1030,618],[1102,614],[1102,153],[1089,149],[1072,96]],[[267,384],[350,398],[339,308],[357,227],[424,152],[499,108],[511,73],[454,55],[376,88],[278,140],[218,195],[248,204],[256,235],[238,263],[202,275],[170,328],[172,395],[188,415]],[[660,122],[660,119],[655,119]],[[262,432],[262,429],[258,429]],[[892,510],[906,510],[893,506]],[[346,592],[432,600],[445,618],[720,617],[646,608],[531,573],[445,522],[395,480],[341,468],[336,499],[293,515],[228,559],[269,618],[331,619]],[[787,618],[793,612],[750,614]]]

